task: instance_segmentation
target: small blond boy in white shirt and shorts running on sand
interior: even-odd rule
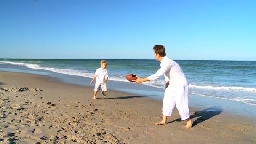
[[[106,82],[107,82],[108,76],[109,76],[109,74],[107,73],[106,67],[107,67],[107,61],[102,60],[101,67],[99,69],[96,69],[95,76],[93,77],[93,79],[90,82],[90,84],[93,83],[93,81],[96,78],[93,99],[96,99],[96,95],[100,88],[102,91],[102,95],[104,97],[106,97],[106,94],[105,94],[107,92]]]

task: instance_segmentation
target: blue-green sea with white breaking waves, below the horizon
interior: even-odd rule
[[[120,91],[125,90],[126,87],[123,85],[124,88],[122,88],[122,84],[130,83],[126,80],[126,75],[135,74],[144,78],[154,74],[160,68],[159,61],[153,59],[106,60],[109,81],[117,83],[114,86],[112,85],[112,88]],[[7,71],[12,71],[11,66],[19,66],[34,69],[36,74],[53,72],[79,76],[80,78],[93,78],[96,69],[101,67],[100,61],[101,59],[0,59],[0,70],[6,71],[6,69],[9,69]],[[256,61],[175,61],[181,66],[187,77],[190,94],[197,95],[202,99],[213,98],[237,101],[256,109]],[[10,67],[6,67],[6,65]],[[72,78],[69,79],[69,82],[72,83]],[[165,89],[164,77],[141,85],[145,85],[144,88],[147,91],[150,91],[150,89],[161,91],[161,95],[163,95]],[[143,88],[141,91],[143,91]]]

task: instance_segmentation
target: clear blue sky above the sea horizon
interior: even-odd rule
[[[0,58],[256,60],[254,0],[1,0]]]

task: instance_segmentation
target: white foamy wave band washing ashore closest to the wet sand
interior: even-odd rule
[[[59,69],[59,68],[53,68],[53,67],[43,67],[38,64],[31,64],[31,63],[24,63],[23,62],[11,62],[11,61],[0,61],[0,64],[15,64],[20,65],[24,67],[28,67],[31,69],[41,69],[41,70],[47,70],[51,72],[61,73],[61,74],[67,74],[67,75],[76,75],[76,76],[82,76],[82,77],[88,77],[93,78],[94,73],[88,72],[86,70],[75,70],[75,69]],[[122,82],[129,82],[126,80],[125,75],[109,75],[109,80],[113,81],[122,81]],[[152,82],[146,82],[143,83],[144,85],[148,85],[155,88],[161,88],[165,89],[165,81],[164,80],[154,80]],[[240,101],[249,105],[256,106],[256,98],[250,97],[254,96],[256,92],[256,88],[245,88],[245,87],[232,87],[232,86],[202,86],[202,85],[192,85],[189,84],[190,94],[200,95],[200,96],[208,96],[208,97],[214,97],[219,99],[227,99],[232,101]],[[239,93],[237,92],[239,91]],[[228,93],[225,93],[228,92]],[[240,97],[240,92],[243,93]],[[215,96],[216,95],[216,96]],[[225,95],[225,96],[224,96]],[[235,97],[234,97],[235,96]]]

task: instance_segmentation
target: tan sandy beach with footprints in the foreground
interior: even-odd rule
[[[92,85],[93,86],[93,85]],[[63,83],[50,76],[0,72],[0,142],[3,144],[250,144],[256,123],[247,117],[190,107],[186,129],[175,109],[166,125],[162,103],[109,90]]]

